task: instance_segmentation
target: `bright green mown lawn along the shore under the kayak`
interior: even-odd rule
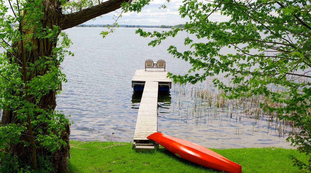
[[[130,143],[70,141],[69,169],[73,173],[89,172],[218,172],[176,157],[160,147],[153,153],[136,152]],[[243,148],[212,149],[239,163],[242,172],[308,172],[292,166],[292,157],[308,158],[293,149]]]

